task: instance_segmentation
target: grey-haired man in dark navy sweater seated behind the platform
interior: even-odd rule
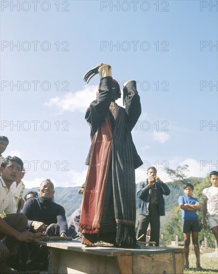
[[[28,199],[21,211],[28,219],[28,230],[33,233],[47,232],[48,236],[66,237],[68,227],[65,210],[52,201],[55,193],[52,181],[43,181],[38,193],[40,197]]]

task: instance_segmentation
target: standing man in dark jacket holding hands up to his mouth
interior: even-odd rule
[[[156,242],[158,247],[160,216],[165,215],[163,194],[169,195],[170,189],[157,176],[157,170],[154,166],[148,168],[147,175],[146,182],[140,182],[137,185],[137,196],[140,198],[137,239],[140,238],[142,242],[146,241],[146,232],[150,223],[150,242]]]

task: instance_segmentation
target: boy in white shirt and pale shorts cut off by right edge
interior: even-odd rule
[[[202,198],[203,206],[203,225],[207,228],[208,218],[209,226],[215,235],[218,247],[218,171],[211,171],[211,187],[203,189]]]

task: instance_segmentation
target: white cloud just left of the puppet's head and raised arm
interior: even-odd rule
[[[98,86],[84,86],[82,90],[75,93],[67,93],[63,97],[53,97],[44,105],[47,107],[55,107],[59,113],[65,111],[85,112],[90,103],[96,99]]]

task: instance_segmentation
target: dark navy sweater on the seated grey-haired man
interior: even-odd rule
[[[21,211],[28,219],[27,228],[30,230],[33,221],[42,222],[45,225],[56,224],[60,226],[60,235],[67,234],[68,227],[63,206],[56,204],[52,199],[44,200],[30,198],[24,204]]]

